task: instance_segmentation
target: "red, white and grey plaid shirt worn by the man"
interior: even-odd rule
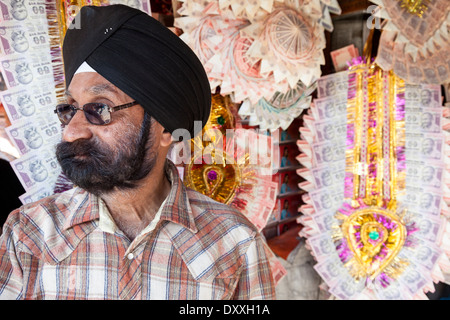
[[[186,188],[172,163],[167,172],[160,217],[133,241],[80,188],[13,211],[0,238],[0,298],[274,299],[253,225]]]

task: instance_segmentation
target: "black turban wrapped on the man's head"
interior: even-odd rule
[[[177,35],[141,10],[82,7],[64,38],[63,58],[66,87],[86,61],[170,133],[183,128],[194,137],[194,121],[202,127],[208,121],[211,89],[203,65]]]

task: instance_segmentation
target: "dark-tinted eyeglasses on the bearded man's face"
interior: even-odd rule
[[[84,112],[86,120],[89,121],[89,123],[105,125],[111,122],[111,112],[126,109],[137,104],[137,101],[133,101],[120,106],[110,107],[105,103],[91,102],[86,103],[81,108],[77,108],[73,104],[63,103],[58,104],[54,112],[58,115],[59,121],[61,121],[63,125],[68,125],[78,110]]]

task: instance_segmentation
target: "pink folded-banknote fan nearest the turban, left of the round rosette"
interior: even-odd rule
[[[270,99],[277,91],[288,90],[286,81],[277,84],[272,75],[260,72],[260,59],[247,54],[254,39],[241,34],[249,24],[237,18],[230,9],[220,10],[216,1],[203,7],[201,1],[186,1],[179,10],[183,15],[175,19],[175,26],[183,30],[180,36],[191,46],[208,74],[212,92],[220,87],[222,95],[230,95],[235,103],[261,97]]]

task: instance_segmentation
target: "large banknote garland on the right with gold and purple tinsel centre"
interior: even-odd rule
[[[339,299],[426,299],[450,273],[439,86],[405,84],[359,61],[319,79],[318,89],[297,170],[308,191],[300,235],[314,268]]]

